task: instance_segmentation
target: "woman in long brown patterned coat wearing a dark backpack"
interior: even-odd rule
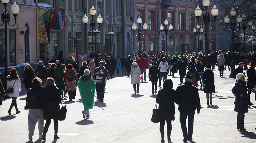
[[[66,81],[66,91],[68,93],[69,101],[75,99],[76,96],[76,70],[73,68],[71,64],[67,65],[66,70],[67,81]]]

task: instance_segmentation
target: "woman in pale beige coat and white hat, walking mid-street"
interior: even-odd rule
[[[133,66],[131,66],[131,75],[132,75],[131,79],[132,79],[134,94],[136,94],[136,84],[137,84],[137,93],[139,93],[141,69],[137,66],[137,62],[133,62],[132,65]]]

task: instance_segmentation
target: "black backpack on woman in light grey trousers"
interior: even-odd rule
[[[40,105],[38,92],[35,89],[30,89],[30,95],[27,100],[28,108],[36,108]]]

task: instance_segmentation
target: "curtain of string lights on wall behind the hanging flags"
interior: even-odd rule
[[[46,7],[40,7],[38,6],[38,57],[40,56],[40,44],[48,44],[48,39],[46,36],[46,25],[44,22],[44,18],[42,17],[43,14],[45,14],[50,8]],[[54,41],[54,30],[50,29],[50,39],[51,41]],[[50,48],[53,50],[54,43],[50,43]],[[45,52],[45,51],[44,51]],[[48,53],[48,51],[46,52]]]

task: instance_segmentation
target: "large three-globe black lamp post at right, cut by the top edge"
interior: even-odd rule
[[[199,26],[205,25],[205,53],[206,53],[205,56],[206,57],[208,55],[208,24],[210,26],[213,26],[215,24],[216,17],[219,14],[219,10],[214,5],[213,8],[211,9],[211,14],[212,14],[214,20],[213,20],[213,24],[210,24],[210,13],[207,12],[207,8],[209,5],[210,5],[210,0],[203,0],[203,6],[204,6],[203,10],[205,10],[205,12],[203,12],[203,24],[202,25],[198,24]],[[199,23],[199,18],[201,17],[201,15],[202,15],[202,10],[200,9],[199,6],[197,6],[197,8],[195,10],[195,16],[197,18],[197,23]],[[207,65],[207,60],[206,60],[206,65]]]

